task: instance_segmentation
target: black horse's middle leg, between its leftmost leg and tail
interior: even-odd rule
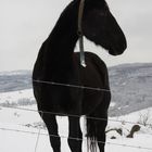
[[[81,152],[83,134],[80,130],[79,117],[68,117],[69,135],[68,144],[72,152]]]

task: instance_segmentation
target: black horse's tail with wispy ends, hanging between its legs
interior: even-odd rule
[[[89,152],[97,152],[97,126],[93,118],[89,116],[86,117],[86,126],[87,126],[87,151]]]

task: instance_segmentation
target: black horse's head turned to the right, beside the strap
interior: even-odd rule
[[[86,0],[81,28],[84,35],[112,55],[122,54],[126,38],[104,0]]]

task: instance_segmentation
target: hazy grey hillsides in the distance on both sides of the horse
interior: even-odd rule
[[[113,66],[109,68],[109,74],[112,90],[111,116],[152,106],[152,63]],[[22,92],[24,89],[31,89],[30,71],[0,73],[0,92],[8,96],[11,91]],[[5,101],[9,100],[5,97]],[[24,100],[28,102],[28,97],[24,97]],[[34,99],[31,102],[34,104]],[[22,99],[18,99],[18,104],[24,104]]]

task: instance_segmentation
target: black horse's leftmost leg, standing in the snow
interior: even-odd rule
[[[48,128],[53,152],[61,152],[61,141],[58,135],[58,124],[56,124],[55,115],[43,113],[41,117]]]

